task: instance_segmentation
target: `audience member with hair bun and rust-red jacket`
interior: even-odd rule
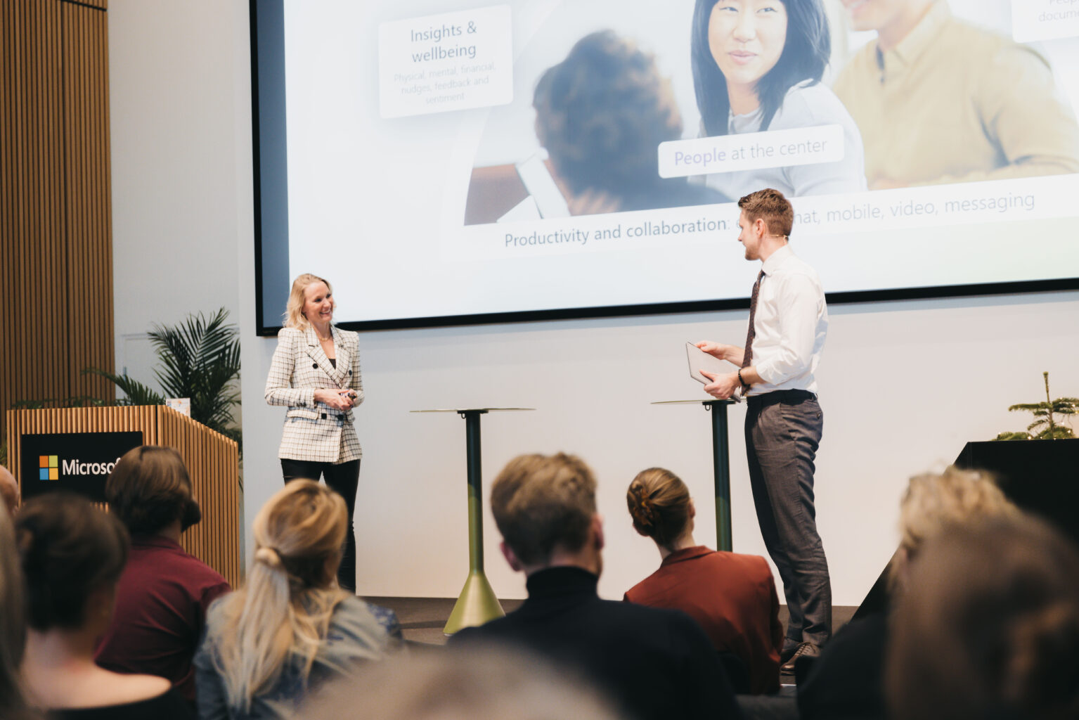
[[[663,561],[624,599],[685,612],[705,628],[718,651],[745,664],[751,693],[778,691],[783,626],[776,582],[764,558],[698,545],[689,490],[669,470],[639,473],[626,503],[633,528],[655,541]]]

